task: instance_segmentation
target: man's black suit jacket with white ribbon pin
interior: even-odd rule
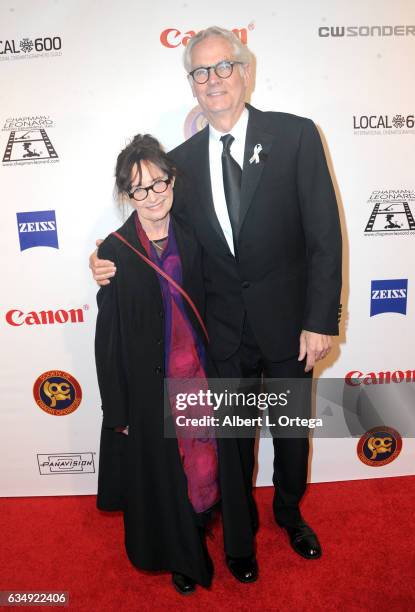
[[[206,321],[216,359],[239,346],[245,313],[264,355],[298,354],[302,329],[338,334],[341,233],[320,136],[312,121],[248,105],[238,259],[215,214],[209,130],[171,151],[175,212],[203,247]],[[250,163],[256,144],[259,163]]]

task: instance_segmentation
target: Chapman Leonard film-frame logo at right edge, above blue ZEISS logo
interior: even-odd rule
[[[381,189],[372,191],[368,203],[372,212],[366,223],[366,236],[415,236],[415,219],[412,208],[415,202],[413,189]]]

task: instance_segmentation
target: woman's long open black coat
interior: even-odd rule
[[[118,231],[145,254],[135,215]],[[203,316],[200,247],[191,230],[173,216],[171,223],[183,288]],[[95,351],[103,410],[97,506],[123,510],[126,550],[135,566],[180,572],[208,586],[210,575],[177,440],[164,437],[160,284],[150,266],[113,235],[100,246],[99,257],[113,261],[117,274],[97,295]],[[193,312],[187,312],[200,332]],[[127,424],[128,436],[114,431]]]

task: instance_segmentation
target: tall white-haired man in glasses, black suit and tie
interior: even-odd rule
[[[209,125],[171,151],[182,170],[176,213],[204,250],[206,322],[223,378],[310,377],[338,334],[341,234],[317,129],[245,104],[251,57],[238,38],[208,28],[186,48],[193,95]],[[101,264],[101,267],[99,267]],[[91,261],[94,277],[114,273]],[[318,558],[303,521],[308,438],[274,439],[274,515],[294,550]],[[220,441],[225,551],[242,582],[257,578],[252,496],[254,441]]]

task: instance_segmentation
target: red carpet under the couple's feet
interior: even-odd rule
[[[275,526],[272,489],[256,497],[258,582],[229,574],[217,524],[214,583],[188,597],[170,575],[134,569],[121,515],[98,512],[95,497],[0,499],[0,590],[69,591],[69,609],[88,612],[415,609],[415,477],[310,485],[302,510],[324,549],[316,561],[298,557]]]

